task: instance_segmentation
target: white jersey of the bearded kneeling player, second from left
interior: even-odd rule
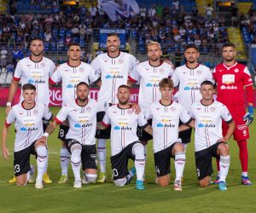
[[[55,121],[61,124],[68,120],[69,130],[66,139],[74,139],[82,145],[96,144],[96,113],[99,105],[95,100],[89,99],[84,107],[80,107],[77,100],[73,100],[61,108]]]

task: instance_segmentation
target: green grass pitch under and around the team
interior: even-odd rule
[[[56,114],[59,108],[51,108]],[[5,107],[0,107],[1,135],[5,118]],[[148,144],[146,165],[146,190],[137,191],[135,181],[125,187],[115,187],[112,182],[105,184],[83,185],[73,188],[73,172],[69,166],[69,182],[65,185],[56,183],[61,176],[60,147],[57,130],[49,137],[48,173],[54,183],[44,185],[43,190],[36,190],[34,184],[16,187],[9,184],[13,176],[14,125],[9,130],[8,147],[11,156],[8,160],[0,159],[0,212],[256,212],[256,124],[250,126],[251,139],[249,150],[249,176],[253,186],[241,185],[241,166],[236,142],[230,140],[231,164],[227,178],[228,190],[218,191],[217,186],[201,188],[197,186],[195,174],[194,144],[189,144],[184,170],[183,191],[173,191],[170,187],[154,184],[154,158],[152,142]],[[108,141],[107,171],[111,178],[110,147]],[[36,164],[31,158],[32,164]],[[215,160],[213,168],[215,169]],[[172,162],[171,177],[174,177]],[[216,176],[216,173],[215,173]],[[215,178],[215,176],[213,176]]]

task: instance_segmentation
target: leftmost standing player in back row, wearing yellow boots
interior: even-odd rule
[[[15,68],[15,75],[13,82],[9,87],[8,102],[6,113],[9,113],[11,103],[14,100],[15,93],[18,89],[19,83],[21,86],[25,83],[32,83],[37,89],[36,101],[49,106],[49,77],[55,70],[55,63],[43,56],[44,42],[39,37],[34,37],[30,43],[30,57],[19,60]],[[23,96],[20,94],[20,101],[23,101]],[[44,121],[44,129],[47,121]],[[9,182],[15,182],[15,177]],[[44,173],[44,183],[51,183],[47,173]]]

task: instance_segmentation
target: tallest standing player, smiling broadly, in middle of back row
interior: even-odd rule
[[[98,55],[91,62],[91,66],[102,77],[102,85],[98,94],[98,101],[102,103],[102,110],[97,114],[97,121],[102,121],[106,108],[118,103],[116,94],[120,85],[126,84],[129,73],[137,64],[134,56],[119,51],[120,40],[116,33],[108,34],[108,53]],[[96,132],[97,153],[100,165],[98,182],[104,182],[106,176],[106,140],[110,138],[110,128]]]

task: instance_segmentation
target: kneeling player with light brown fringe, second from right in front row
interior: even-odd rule
[[[144,112],[144,121],[141,126],[148,131],[149,118],[152,118],[153,141],[154,141],[154,165],[158,183],[166,187],[170,183],[170,159],[175,158],[176,178],[174,190],[181,191],[181,178],[185,166],[185,152],[182,141],[178,138],[179,119],[184,124],[189,124],[191,118],[186,109],[175,101],[172,101],[173,81],[163,78],[160,83],[160,101],[155,101]],[[149,134],[150,131],[148,131]]]

